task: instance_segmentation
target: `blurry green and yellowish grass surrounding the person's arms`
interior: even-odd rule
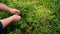
[[[60,34],[60,0],[0,0],[22,12],[22,19],[10,24],[2,34]],[[0,19],[11,16],[0,12]]]

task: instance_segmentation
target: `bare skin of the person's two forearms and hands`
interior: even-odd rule
[[[0,3],[0,10],[5,10],[13,14],[13,16],[0,20],[3,24],[3,28],[5,28],[7,25],[12,23],[13,21],[18,21],[21,19],[21,17],[17,15],[17,14],[20,14],[20,11],[17,9],[10,8],[7,5]]]

